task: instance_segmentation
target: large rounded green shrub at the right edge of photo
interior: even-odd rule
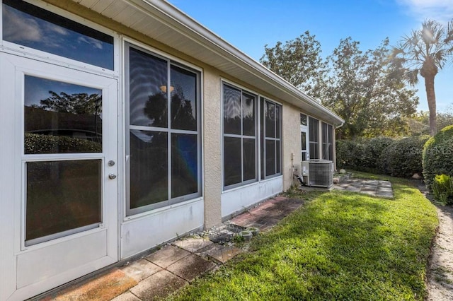
[[[423,148],[423,176],[428,189],[436,175],[453,176],[453,125],[430,138]]]

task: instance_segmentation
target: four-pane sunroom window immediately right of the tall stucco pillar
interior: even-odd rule
[[[224,187],[256,182],[257,97],[241,88],[223,85]]]

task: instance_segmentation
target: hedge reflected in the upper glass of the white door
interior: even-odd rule
[[[67,136],[25,134],[25,153],[101,153],[101,143]]]

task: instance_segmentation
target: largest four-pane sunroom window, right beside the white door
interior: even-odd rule
[[[200,73],[126,44],[128,213],[201,195]]]

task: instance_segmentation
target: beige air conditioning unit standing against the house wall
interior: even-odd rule
[[[306,186],[326,187],[333,185],[333,162],[309,160],[301,163],[301,176]]]

